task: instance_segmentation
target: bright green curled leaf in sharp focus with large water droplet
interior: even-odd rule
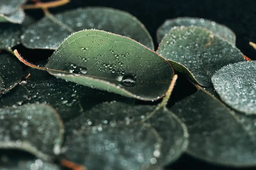
[[[68,37],[46,68],[62,79],[141,100],[162,97],[173,77],[171,65],[154,51],[98,30]]]

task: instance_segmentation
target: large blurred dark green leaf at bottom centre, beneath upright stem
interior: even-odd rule
[[[139,170],[175,161],[187,146],[186,127],[172,112],[121,102],[97,105],[73,119],[67,159],[88,169]],[[101,164],[95,164],[101,162]],[[153,168],[153,167],[154,168]]]

